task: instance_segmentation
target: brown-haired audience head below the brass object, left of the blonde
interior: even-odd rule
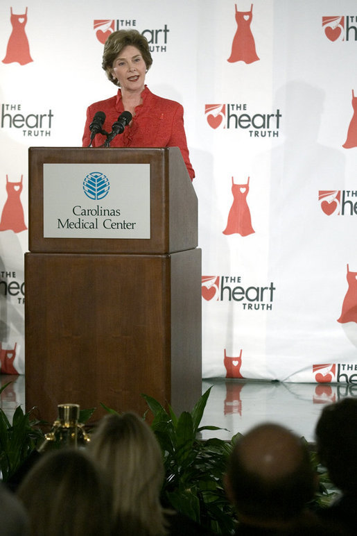
[[[83,451],[43,454],[17,495],[28,512],[31,536],[111,534],[110,484]]]

